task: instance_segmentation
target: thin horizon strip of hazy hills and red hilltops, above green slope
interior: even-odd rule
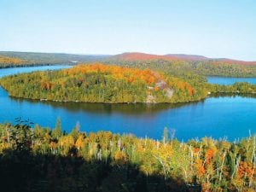
[[[0,57],[12,58],[13,64],[72,64],[76,62],[95,62],[95,61],[210,61],[212,64],[241,64],[256,65],[256,61],[238,61],[226,58],[208,58],[203,55],[186,54],[167,54],[154,55],[140,52],[127,52],[119,55],[78,55],[65,53],[37,53],[37,52],[19,52],[19,51],[0,51]],[[9,64],[12,64],[9,59]],[[2,63],[1,63],[2,61]],[[0,65],[3,64],[0,60]]]

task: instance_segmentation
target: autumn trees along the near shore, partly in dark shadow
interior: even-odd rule
[[[3,191],[247,191],[256,189],[256,137],[240,142],[202,138],[180,143],[165,128],[162,141],[0,125]]]

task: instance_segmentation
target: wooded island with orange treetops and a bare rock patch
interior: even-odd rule
[[[188,102],[207,96],[199,79],[100,63],[12,75],[0,84],[10,96],[61,102]]]

